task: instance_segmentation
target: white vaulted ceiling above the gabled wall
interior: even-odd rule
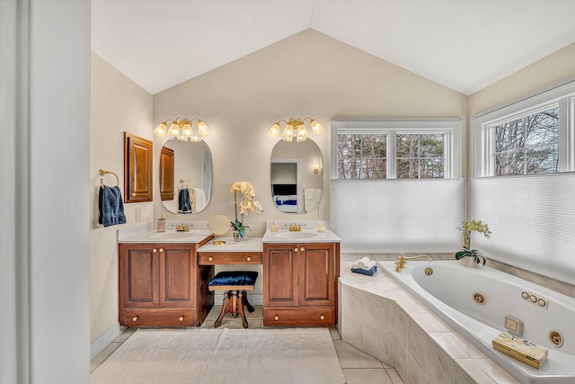
[[[575,0],[92,4],[93,51],[151,94],[308,28],[462,94],[575,42]]]

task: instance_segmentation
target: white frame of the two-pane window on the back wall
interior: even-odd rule
[[[444,177],[437,180],[461,178],[461,119],[332,119],[330,130],[332,135],[330,177],[332,180],[346,180],[338,179],[338,135],[340,134],[387,135],[386,178],[377,180],[405,180],[397,179],[397,134],[443,134],[445,138]]]

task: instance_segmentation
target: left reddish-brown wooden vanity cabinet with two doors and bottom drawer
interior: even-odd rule
[[[206,316],[201,310],[206,308],[206,298],[197,288],[202,270],[196,262],[196,246],[193,243],[119,245],[122,326],[199,325]]]

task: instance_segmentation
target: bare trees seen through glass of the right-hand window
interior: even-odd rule
[[[559,106],[494,127],[495,175],[559,172]]]

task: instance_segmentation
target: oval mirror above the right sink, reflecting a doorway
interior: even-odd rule
[[[279,141],[271,152],[271,195],[279,210],[310,212],[322,200],[323,163],[320,147],[303,142]]]

